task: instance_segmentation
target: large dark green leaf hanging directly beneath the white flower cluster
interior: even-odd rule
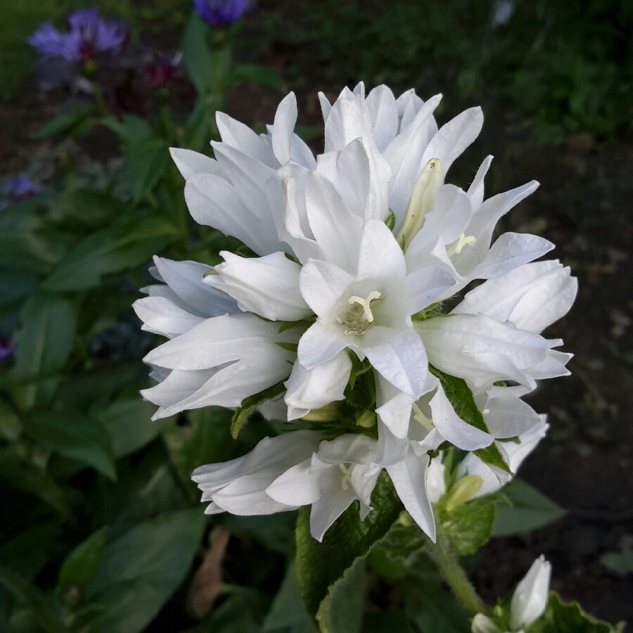
[[[310,535],[310,508],[304,506],[297,520],[297,575],[307,611],[313,618],[331,586],[359,558],[364,558],[372,547],[385,537],[402,511],[391,480],[381,473],[371,496],[373,510],[360,520],[357,501],[338,518],[319,543]],[[321,611],[320,619],[327,620]]]

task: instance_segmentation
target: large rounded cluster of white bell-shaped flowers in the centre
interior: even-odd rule
[[[172,150],[193,219],[237,238],[250,256],[224,251],[214,269],[155,258],[159,283],[134,307],[144,329],[170,340],[145,359],[158,384],[143,396],[162,418],[238,408],[268,390],[264,415],[331,420],[360,380],[371,402],[349,432],[295,430],[198,468],[207,512],[312,504],[320,540],[352,501],[362,516],[371,510],[386,470],[434,538],[429,452],[494,442],[508,461],[509,442],[496,440],[543,428],[520,397],[568,373],[570,354],[554,349],[561,340],[541,332],[568,312],[576,281],[558,261],[530,263],[554,248],[543,238],[504,233],[492,242],[499,218],[535,181],[485,200],[488,157],[468,191],[445,184],[480,132],[479,108],[438,128],[440,96],[395,98],[385,86],[365,94],[359,84],[333,104],[319,98],[325,147],[316,158],[293,132],[293,94],[267,134],[218,114],[215,158]],[[442,302],[474,280],[485,281],[445,314]],[[441,375],[466,381],[487,430],[460,418]],[[488,470],[496,485],[508,478]]]

